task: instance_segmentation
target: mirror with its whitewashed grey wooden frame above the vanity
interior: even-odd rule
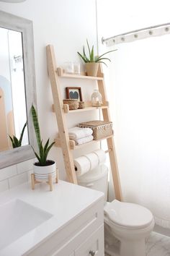
[[[35,157],[32,104],[36,108],[32,21],[0,10],[0,169]]]

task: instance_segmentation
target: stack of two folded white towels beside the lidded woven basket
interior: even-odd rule
[[[93,140],[93,130],[90,128],[73,127],[68,129],[68,135],[70,140],[74,140],[76,145],[81,145]]]

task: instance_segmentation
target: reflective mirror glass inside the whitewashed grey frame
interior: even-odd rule
[[[0,151],[4,151],[29,141],[27,126],[21,143],[12,144],[10,139],[20,139],[27,121],[22,33],[0,27],[0,38]]]

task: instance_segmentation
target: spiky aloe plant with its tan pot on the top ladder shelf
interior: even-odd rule
[[[90,48],[88,40],[86,40],[86,43],[87,43],[87,47],[88,47],[88,50],[89,50],[89,57],[86,56],[85,48],[83,49],[83,54],[80,54],[79,51],[77,53],[79,54],[81,59],[86,64],[87,75],[91,76],[91,77],[96,77],[97,76],[97,71],[98,71],[98,68],[99,68],[99,63],[103,63],[104,65],[107,66],[105,61],[110,61],[110,59],[105,58],[104,55],[109,54],[110,52],[116,51],[116,50],[107,51],[106,53],[104,53],[100,56],[95,56],[94,55],[94,46],[92,46],[92,48]]]

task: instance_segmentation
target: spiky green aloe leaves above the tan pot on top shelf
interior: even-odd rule
[[[99,62],[99,63],[103,63],[104,65],[107,66],[107,64],[104,61],[111,61],[109,58],[105,58],[103,57],[106,54],[111,53],[112,51],[117,51],[117,50],[112,50],[112,51],[107,51],[106,53],[100,55],[100,56],[95,56],[94,55],[94,46],[92,46],[92,48],[90,48],[89,46],[89,42],[86,39],[86,43],[87,43],[87,47],[88,47],[88,51],[89,51],[89,56],[86,56],[86,52],[85,52],[85,48],[83,48],[83,54],[80,54],[79,51],[77,52],[79,54],[79,56],[81,57],[81,59],[87,63],[87,62]]]

